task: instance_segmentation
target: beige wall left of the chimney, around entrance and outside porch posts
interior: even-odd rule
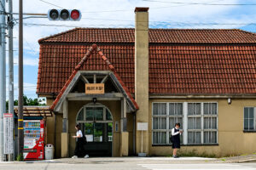
[[[47,105],[53,103],[53,99],[47,99]],[[79,110],[91,101],[68,101],[68,133],[69,133],[69,156],[73,156],[75,148],[75,140],[72,138],[75,135],[76,116]],[[102,105],[106,105],[113,115],[113,156],[120,154],[120,118],[121,118],[121,103],[120,101],[98,101]],[[55,123],[56,116],[56,123]],[[119,122],[119,132],[115,132],[115,122]],[[55,127],[56,124],[56,127]],[[56,133],[54,129],[56,128]],[[55,144],[56,157],[61,157],[61,132],[62,132],[62,113],[58,113],[47,118],[47,144]],[[127,114],[127,132],[129,139],[126,141],[129,144],[129,155],[133,153],[133,115]],[[56,137],[55,137],[56,135]],[[56,139],[56,141],[55,141]]]

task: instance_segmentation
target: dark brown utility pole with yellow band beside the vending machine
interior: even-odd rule
[[[23,157],[23,148],[24,148],[24,133],[23,133],[23,4],[22,4],[22,0],[19,0],[18,156]]]

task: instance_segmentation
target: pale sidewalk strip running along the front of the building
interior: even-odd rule
[[[2,163],[87,163],[87,164],[107,164],[107,163],[244,163],[244,162],[256,162],[256,154],[254,155],[244,155],[244,156],[234,156],[234,157],[223,157],[223,158],[206,158],[206,157],[90,157],[90,158],[61,158],[54,160],[44,160],[44,161],[0,161]]]

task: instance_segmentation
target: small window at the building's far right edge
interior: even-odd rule
[[[256,130],[256,118],[255,108],[245,107],[244,108],[244,130],[254,131]]]

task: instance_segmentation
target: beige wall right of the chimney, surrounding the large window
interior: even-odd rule
[[[243,109],[256,107],[256,99],[232,99],[231,105],[227,99],[150,99],[148,150],[151,156],[172,155],[171,146],[152,146],[152,102],[218,102],[218,145],[182,146],[182,151],[196,150],[216,156],[256,152],[256,133],[243,133]]]

